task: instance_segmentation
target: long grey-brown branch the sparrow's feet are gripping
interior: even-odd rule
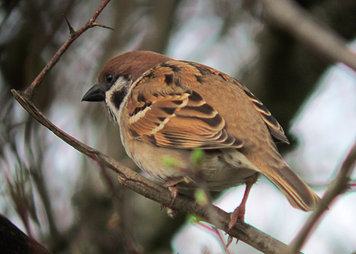
[[[122,185],[166,207],[171,204],[171,193],[167,188],[137,174],[120,162],[117,162],[100,151],[80,142],[78,139],[72,137],[49,121],[21,92],[16,90],[12,90],[11,92],[15,99],[29,112],[29,114],[52,131],[56,136],[60,137],[74,149],[97,160],[98,163],[102,163],[112,171],[116,172],[118,174],[118,180]],[[228,230],[230,215],[212,204],[201,207],[191,197],[179,194],[172,205],[172,209],[185,214],[195,214],[218,229],[225,232]],[[212,216],[212,214],[214,214],[214,216]],[[264,253],[281,253],[286,252],[289,249],[286,244],[241,221],[229,231],[229,235],[239,238],[239,240]]]

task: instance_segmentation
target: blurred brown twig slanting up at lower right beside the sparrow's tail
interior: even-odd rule
[[[291,252],[295,253],[301,249],[315,224],[321,218],[321,215],[329,209],[330,204],[336,197],[344,193],[349,188],[350,176],[352,175],[356,164],[356,142],[349,151],[345,160],[342,162],[340,172],[331,186],[325,192],[320,204],[315,212],[309,217],[303,229],[299,232],[296,238],[290,243]]]

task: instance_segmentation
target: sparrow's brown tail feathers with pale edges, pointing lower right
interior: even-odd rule
[[[287,197],[292,207],[314,211],[320,197],[287,165],[263,174]]]

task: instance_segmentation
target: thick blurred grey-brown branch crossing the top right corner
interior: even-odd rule
[[[308,45],[312,52],[356,71],[356,54],[347,41],[289,0],[259,0],[266,22]]]

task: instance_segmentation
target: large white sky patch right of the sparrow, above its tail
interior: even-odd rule
[[[287,156],[289,164],[315,183],[330,182],[356,139],[356,74],[341,64],[325,72],[291,132],[300,146]]]

